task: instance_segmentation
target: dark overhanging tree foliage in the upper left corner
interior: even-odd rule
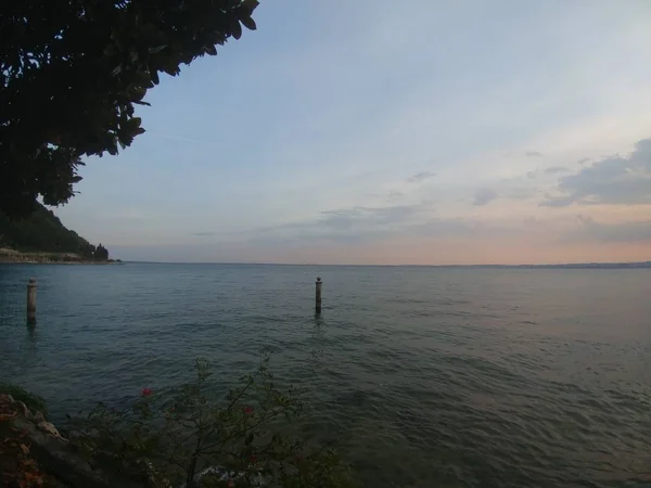
[[[59,205],[81,157],[142,132],[135,104],[181,64],[239,39],[257,0],[2,0],[0,211]]]

